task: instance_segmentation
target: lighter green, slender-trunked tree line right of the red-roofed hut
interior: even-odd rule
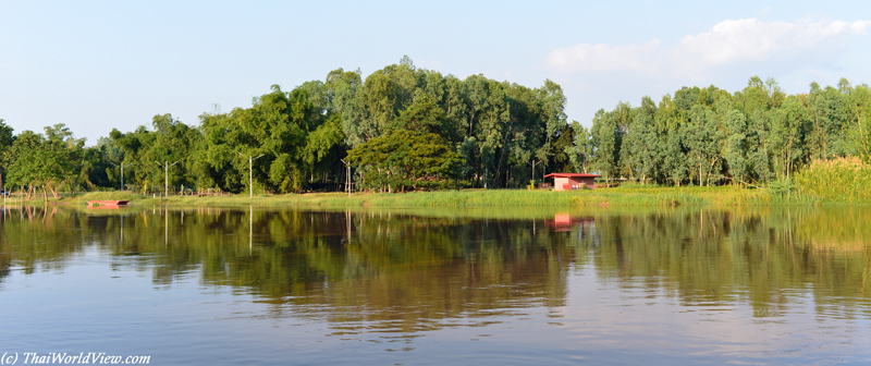
[[[774,80],[751,77],[729,94],[684,87],[657,103],[599,110],[587,130],[573,124],[567,149],[576,171],[608,180],[667,185],[787,181],[814,160],[862,157],[871,148],[871,90],[842,78],[786,95]]]

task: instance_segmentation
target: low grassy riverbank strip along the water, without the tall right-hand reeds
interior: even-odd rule
[[[585,191],[464,190],[403,194],[312,193],[287,195],[246,194],[226,196],[169,196],[162,199],[128,192],[94,192],[50,198],[52,205],[85,206],[88,200],[127,199],[135,206],[299,206],[299,207],[657,207],[657,206],[766,206],[815,204],[813,200],[782,199],[763,190],[717,187],[624,186]],[[10,202],[12,205],[44,205],[42,199]]]

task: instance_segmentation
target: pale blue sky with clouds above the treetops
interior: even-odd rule
[[[788,94],[871,84],[871,2],[0,0],[0,119],[15,133],[65,123],[94,145],[406,54],[461,78],[550,78],[589,126],[619,101],[755,75]]]

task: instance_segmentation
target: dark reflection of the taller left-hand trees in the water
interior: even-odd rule
[[[25,219],[2,222],[3,273],[63,266],[97,242],[114,256],[142,257],[159,284],[199,270],[208,284],[262,296],[275,316],[304,308],[296,315],[396,331],[563,305],[562,258],[572,257],[563,240],[532,237],[531,222],[254,208],[57,212],[25,208]],[[50,224],[34,219],[47,215],[57,215]]]

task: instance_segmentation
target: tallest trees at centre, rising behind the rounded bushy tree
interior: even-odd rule
[[[495,186],[520,185],[517,178],[530,160],[540,161],[543,172],[553,159],[560,168],[568,159],[564,146],[554,147],[566,125],[565,96],[551,81],[530,89],[482,75],[458,80],[404,58],[365,83],[336,70],[327,84],[344,96],[333,110],[341,109],[349,147],[396,130],[434,133],[466,160],[461,179]]]

